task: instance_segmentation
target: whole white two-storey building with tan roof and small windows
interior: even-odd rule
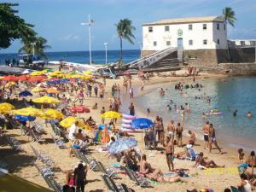
[[[143,55],[169,47],[226,49],[227,30],[219,16],[159,20],[143,24]]]

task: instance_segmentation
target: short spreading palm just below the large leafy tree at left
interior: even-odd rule
[[[40,55],[44,58],[47,56],[44,53],[44,49],[50,49],[51,47],[47,44],[47,40],[42,37],[37,38],[29,38],[26,41],[22,40],[24,44],[23,47],[19,49],[19,52],[26,52],[27,54],[32,54],[33,49],[35,50],[35,54]],[[34,45],[33,45],[34,44]]]

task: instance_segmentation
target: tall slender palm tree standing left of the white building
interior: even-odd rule
[[[119,63],[123,63],[123,39],[128,40],[131,44],[134,44],[132,38],[135,39],[132,32],[136,30],[134,26],[132,26],[132,21],[129,19],[119,20],[118,24],[115,24],[116,31],[118,32],[120,39],[120,58]]]

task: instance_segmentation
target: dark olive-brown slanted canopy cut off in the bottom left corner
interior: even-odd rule
[[[3,192],[53,192],[36,183],[29,182],[24,178],[9,174],[7,171],[0,169],[0,191]]]

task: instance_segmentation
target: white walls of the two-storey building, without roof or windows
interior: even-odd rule
[[[203,24],[207,24],[207,30],[203,30]],[[193,23],[192,30],[189,30],[189,24],[166,25],[169,26],[169,32],[165,32],[165,26],[152,26],[153,32],[148,32],[148,26],[143,26],[143,50],[177,47],[177,38],[183,38],[183,49],[225,49],[227,36],[223,25],[219,23],[219,30],[217,22]],[[179,29],[183,32],[181,36],[177,35]],[[207,44],[203,44],[204,39]],[[193,45],[189,45],[189,40],[193,40]],[[157,46],[154,46],[154,41]],[[171,41],[171,45],[167,46],[166,41]]]

